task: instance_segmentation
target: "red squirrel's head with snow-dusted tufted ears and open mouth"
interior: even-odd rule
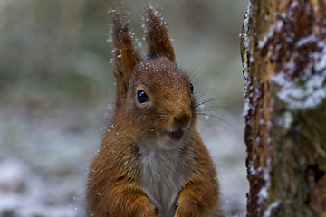
[[[144,21],[149,54],[140,59],[127,19],[113,13],[113,72],[117,79],[113,120],[136,143],[161,141],[163,147],[173,148],[193,134],[197,118],[194,87],[177,68],[161,15],[146,5]]]

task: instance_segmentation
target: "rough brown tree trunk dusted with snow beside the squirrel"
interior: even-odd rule
[[[251,0],[247,216],[326,216],[326,0]]]

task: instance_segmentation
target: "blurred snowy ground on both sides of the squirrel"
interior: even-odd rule
[[[65,109],[46,115],[0,111],[1,217],[82,216],[87,167],[105,122],[99,117]],[[240,117],[226,119],[199,126],[216,162],[228,216],[245,216],[243,123]]]

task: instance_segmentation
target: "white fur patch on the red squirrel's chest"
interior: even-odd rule
[[[140,181],[144,193],[160,217],[174,216],[177,195],[186,182],[187,163],[180,148],[164,150],[158,146],[140,149]]]

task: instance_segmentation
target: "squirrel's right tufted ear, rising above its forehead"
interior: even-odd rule
[[[148,3],[145,5],[144,19],[149,56],[165,56],[170,61],[175,61],[173,45],[168,36],[168,26],[158,11]]]

